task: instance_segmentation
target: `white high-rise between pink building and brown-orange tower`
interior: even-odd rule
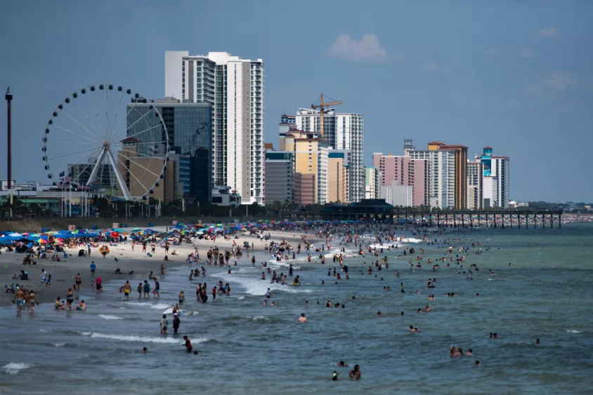
[[[406,151],[413,159],[429,159],[429,199],[431,207],[455,208],[455,151]]]

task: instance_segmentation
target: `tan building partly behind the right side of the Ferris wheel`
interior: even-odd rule
[[[132,196],[142,196],[146,193],[146,190],[154,184],[156,175],[161,173],[163,161],[167,157],[165,153],[155,154],[150,158],[138,155],[139,142],[136,138],[126,138],[122,140],[122,151],[117,152],[117,168]],[[179,155],[169,153],[167,170],[164,171],[163,178],[147,196],[164,203],[182,198],[183,185],[179,182]]]

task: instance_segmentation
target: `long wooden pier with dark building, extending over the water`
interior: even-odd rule
[[[366,220],[426,227],[562,227],[562,211],[542,210],[436,210],[398,208],[380,199],[366,199],[349,205],[328,204],[321,213],[301,211],[304,220]]]

